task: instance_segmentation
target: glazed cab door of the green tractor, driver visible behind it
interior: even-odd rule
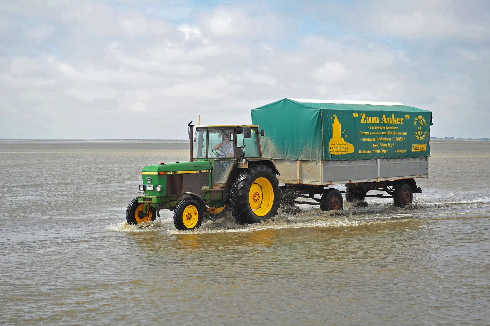
[[[213,164],[213,188],[224,188],[236,162],[234,128],[208,129],[208,159]]]

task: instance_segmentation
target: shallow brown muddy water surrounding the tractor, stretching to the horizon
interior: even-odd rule
[[[405,209],[124,222],[187,142],[0,141],[2,325],[489,325],[490,142],[432,141]],[[343,190],[343,186],[338,186]]]

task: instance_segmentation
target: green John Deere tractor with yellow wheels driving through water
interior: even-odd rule
[[[198,228],[203,214],[229,209],[240,224],[260,223],[277,214],[279,172],[262,157],[258,125],[189,126],[189,162],[161,162],[143,168],[143,184],[126,209],[126,221],[154,221],[161,209],[173,211],[179,230]]]

